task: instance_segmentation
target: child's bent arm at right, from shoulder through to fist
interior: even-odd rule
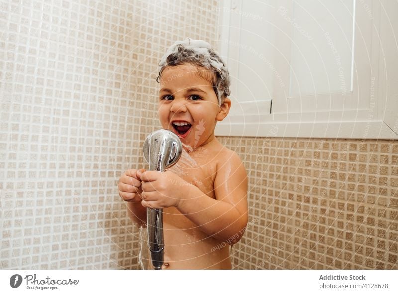
[[[152,208],[175,206],[207,235],[236,243],[242,237],[248,219],[246,170],[236,153],[217,167],[214,181],[216,199],[176,174],[146,172],[142,205]]]

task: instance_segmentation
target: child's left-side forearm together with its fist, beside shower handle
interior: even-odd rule
[[[129,169],[120,177],[119,195],[127,202],[127,213],[130,219],[140,226],[146,224],[146,208],[141,205],[141,180],[142,170]]]

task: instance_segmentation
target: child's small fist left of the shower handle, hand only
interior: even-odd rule
[[[124,201],[141,202],[141,179],[140,175],[145,169],[129,169],[120,177],[119,195]]]

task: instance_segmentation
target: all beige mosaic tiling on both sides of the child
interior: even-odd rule
[[[158,127],[157,62],[217,44],[217,1],[0,0],[0,268],[136,269],[118,196]],[[398,269],[398,143],[232,138],[249,175],[238,269]]]

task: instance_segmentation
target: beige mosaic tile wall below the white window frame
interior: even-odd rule
[[[219,138],[244,160],[238,269],[398,269],[398,141]]]

